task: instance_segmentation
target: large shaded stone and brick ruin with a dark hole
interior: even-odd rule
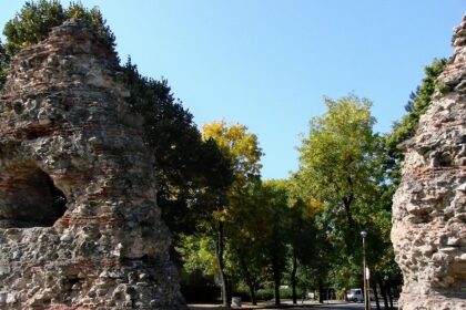
[[[0,309],[186,309],[118,58],[78,20],[0,96]]]

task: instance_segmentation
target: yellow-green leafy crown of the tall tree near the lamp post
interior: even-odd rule
[[[328,112],[311,122],[300,148],[300,177],[308,195],[335,207],[369,185],[375,143],[371,103],[355,96],[325,99]]]

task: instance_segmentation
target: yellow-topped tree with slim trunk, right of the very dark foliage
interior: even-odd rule
[[[180,131],[175,131],[175,133],[180,135]],[[225,122],[206,124],[203,126],[202,141],[211,147],[215,146],[221,155],[219,158],[224,158],[224,162],[229,163],[227,170],[212,170],[206,182],[213,183],[213,185],[206,187],[205,190],[197,190],[196,193],[201,192],[205,195],[195,199],[205,203],[204,208],[199,210],[195,223],[200,228],[197,229],[199,234],[211,238],[212,241],[215,236],[215,242],[213,242],[215,244],[213,248],[215,255],[212,255],[210,259],[211,265],[217,268],[222,291],[224,291],[224,304],[227,304],[225,282],[227,278],[233,278],[231,276],[235,272],[232,270],[239,270],[237,266],[243,267],[246,259],[247,261],[254,260],[251,252],[243,250],[243,248],[247,249],[247,245],[242,242],[244,239],[235,238],[244,234],[246,229],[237,229],[234,218],[246,209],[251,210],[249,206],[252,200],[249,190],[260,180],[261,165],[259,161],[262,151],[259,147],[257,137],[240,124],[229,125]],[[188,154],[192,156],[193,153],[189,152]],[[215,158],[205,155],[209,154],[204,152],[194,156],[202,156],[206,165],[215,163],[213,161]],[[209,207],[205,208],[205,205]],[[241,251],[237,251],[239,248]],[[181,251],[183,250],[181,249]],[[184,260],[186,261],[186,258]],[[253,275],[256,271],[254,268],[247,270],[240,268],[240,270],[244,271],[241,272],[242,276]]]

